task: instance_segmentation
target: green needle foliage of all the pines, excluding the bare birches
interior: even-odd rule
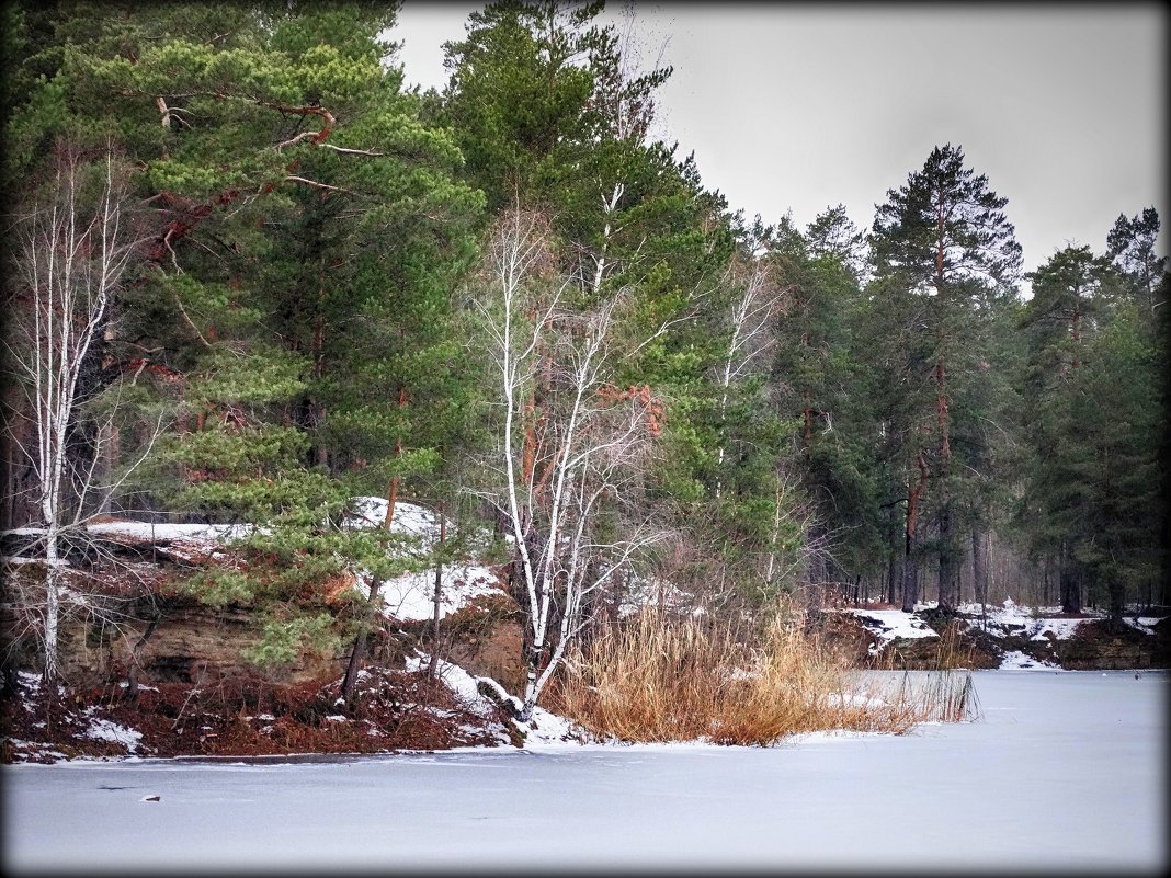
[[[482,291],[485,229],[515,207],[548,224],[534,288],[567,281],[557,332],[621,301],[608,378],[655,400],[639,513],[700,557],[682,575],[758,602],[884,576],[922,454],[911,561],[999,529],[1090,594],[1150,585],[1171,314],[1155,210],[1121,215],[1102,255],[1054,254],[1027,302],[1007,203],[950,144],[869,234],[842,205],[803,229],[746,222],[693,155],[650,142],[671,71],[638,70],[601,9],[489,4],[446,47],[446,89],[420,96],[386,39],[393,4],[5,7],[14,203],[52,187],[56,151],[111,144],[141,204],[76,444],[117,427],[110,483],[151,452],[115,505],[256,526],[238,568],[187,585],[272,617],[249,660],[324,637],[314,602],[337,577],[432,562],[342,527],[354,496],[393,486],[458,509],[459,531],[482,524],[467,493],[487,478],[494,378],[464,300]],[[775,307],[732,377],[758,269]],[[525,389],[534,418],[554,385]],[[621,526],[615,509],[598,528]],[[460,539],[445,551],[471,551]]]

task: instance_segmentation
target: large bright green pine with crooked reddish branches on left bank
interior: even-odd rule
[[[107,12],[42,22],[6,171],[35,172],[62,138],[112,139],[139,169],[146,267],[102,356],[112,376],[162,376],[177,418],[153,478],[117,499],[254,524],[251,565],[192,588],[253,601],[280,639],[336,574],[367,570],[376,592],[416,563],[385,528],[340,522],[470,430],[453,289],[482,198],[384,63],[392,5]]]

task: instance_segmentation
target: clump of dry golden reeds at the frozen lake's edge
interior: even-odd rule
[[[893,685],[860,674],[788,608],[748,642],[703,617],[644,610],[569,657],[550,707],[624,741],[769,745],[803,732],[899,734],[963,718],[971,678],[936,677]]]

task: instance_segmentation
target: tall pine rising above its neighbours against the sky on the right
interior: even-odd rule
[[[1012,347],[998,345],[993,328],[1015,304],[1021,268],[1007,199],[964,160],[961,149],[937,146],[878,206],[864,317],[877,321],[875,365],[890,389],[878,407],[888,471],[902,482],[906,523],[915,496],[916,530],[930,526],[922,536],[945,606],[959,599],[966,537],[991,517],[986,482],[1002,478],[997,420],[984,406],[995,397],[997,369],[1012,368],[1002,359]],[[909,536],[913,554],[920,534]]]

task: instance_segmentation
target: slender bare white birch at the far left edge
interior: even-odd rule
[[[104,160],[88,164],[61,148],[46,201],[35,204],[20,224],[18,331],[9,354],[27,393],[32,430],[21,451],[35,475],[36,507],[44,528],[46,680],[59,672],[62,537],[83,523],[87,496],[98,481],[101,450],[89,465],[78,465],[69,438],[83,402],[83,370],[136,249],[124,204],[109,151]]]

